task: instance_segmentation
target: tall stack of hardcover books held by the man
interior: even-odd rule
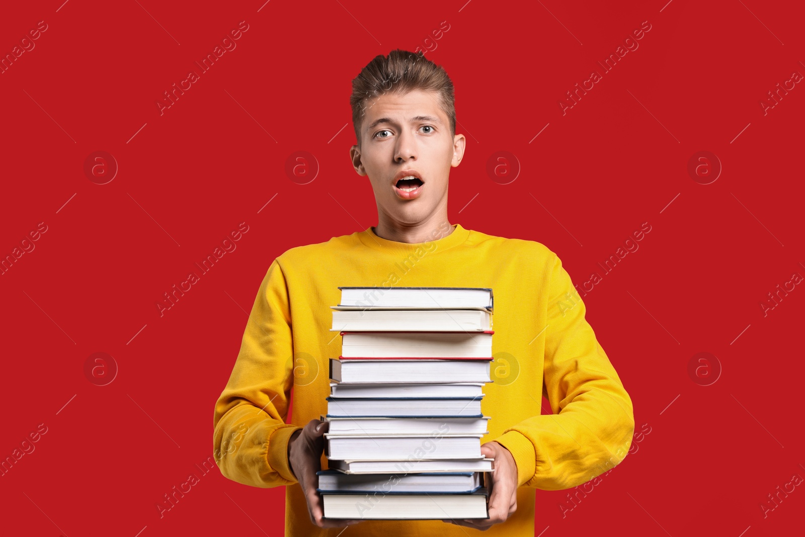
[[[492,382],[492,289],[339,287],[325,518],[489,518],[481,453]]]

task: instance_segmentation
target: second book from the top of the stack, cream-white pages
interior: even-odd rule
[[[485,309],[409,309],[333,311],[331,331],[483,332],[492,329]]]

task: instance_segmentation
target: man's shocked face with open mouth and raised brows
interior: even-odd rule
[[[369,176],[378,212],[411,225],[447,213],[448,176],[464,156],[464,143],[463,134],[450,133],[437,93],[415,90],[366,101],[360,147],[349,153],[355,171]]]

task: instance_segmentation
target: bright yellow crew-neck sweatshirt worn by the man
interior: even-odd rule
[[[271,262],[215,405],[221,473],[246,485],[287,485],[285,535],[342,531],[310,522],[287,457],[291,433],[327,413],[328,360],[341,354],[341,336],[330,331],[338,286],[493,289],[495,382],[483,389],[481,411],[491,419],[481,444],[496,440],[511,452],[519,488],[517,511],[484,535],[533,537],[536,489],[572,488],[625,457],[634,432],[631,399],[554,252],[461,225],[416,244],[380,238],[369,227],[291,248]],[[541,415],[543,395],[552,415]],[[326,456],[321,463],[328,468]],[[346,531],[350,537],[477,533],[439,520],[366,520]]]

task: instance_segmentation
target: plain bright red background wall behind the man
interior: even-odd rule
[[[0,75],[0,254],[47,225],[0,276],[0,457],[47,427],[0,477],[8,532],[282,535],[283,489],[217,469],[163,518],[155,504],[212,454],[213,403],[271,260],[377,224],[348,160],[350,81],[375,55],[418,46],[452,77],[468,138],[453,223],[543,242],[578,284],[652,226],[584,296],[650,434],[564,518],[568,491],[539,491],[535,534],[801,527],[802,486],[760,508],[805,477],[805,290],[766,316],[759,305],[805,275],[805,89],[766,114],[759,104],[805,73],[794,2],[62,1],[0,17],[3,56],[47,23]],[[160,115],[155,101],[241,21],[237,48]],[[643,21],[639,48],[604,74],[596,62]],[[593,69],[603,80],[563,115],[559,99]],[[93,151],[118,163],[107,184],[85,174]],[[308,184],[285,171],[295,151],[317,161]],[[496,151],[518,160],[509,184],[486,172]],[[712,184],[688,174],[697,151],[720,159]],[[241,222],[237,250],[160,316],[163,293]],[[105,386],[85,375],[97,352],[118,366]],[[716,358],[690,375],[700,352]],[[716,361],[720,377],[701,386]]]

